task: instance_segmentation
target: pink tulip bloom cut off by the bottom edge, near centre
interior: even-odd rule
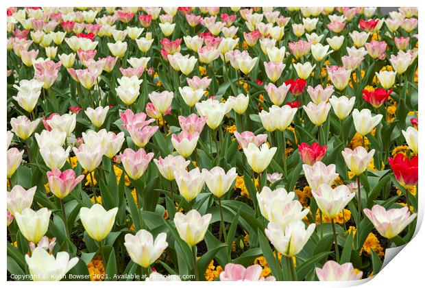
[[[263,267],[258,264],[247,268],[241,264],[228,263],[220,273],[220,281],[276,281],[274,276],[261,277]]]

